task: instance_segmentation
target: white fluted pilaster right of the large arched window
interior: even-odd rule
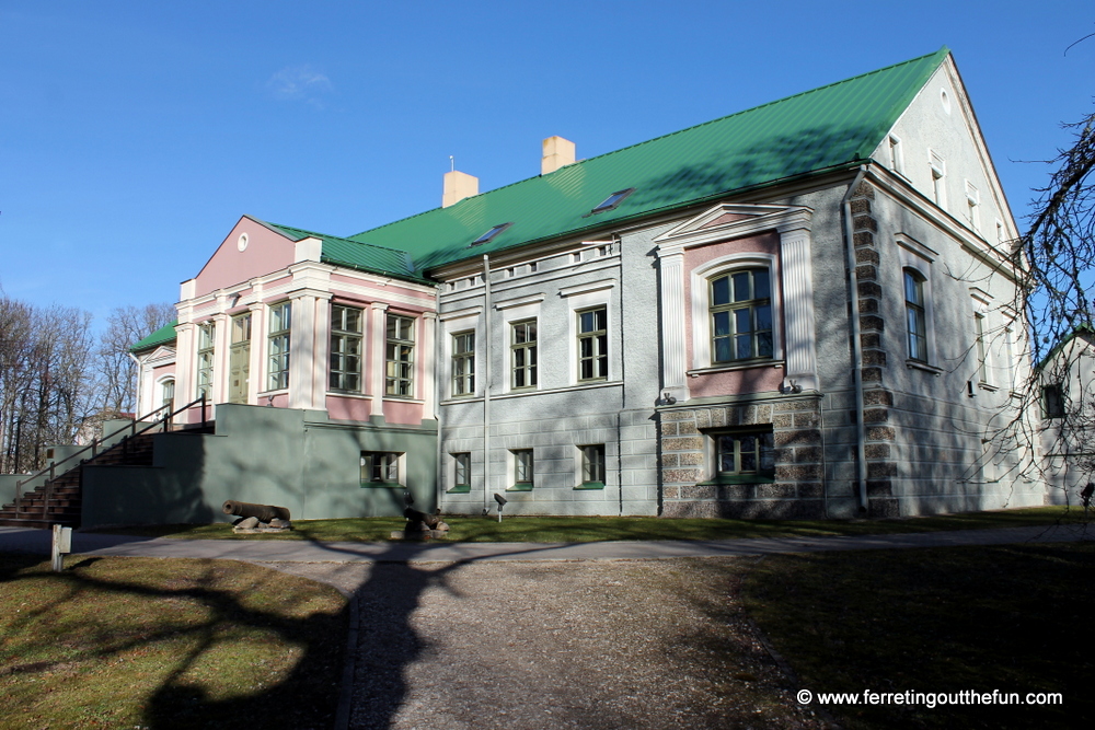
[[[817,337],[814,328],[814,265],[810,231],[780,229],[783,259],[783,320],[787,332],[784,349],[787,369],[784,386],[794,380],[804,390],[817,390]]]

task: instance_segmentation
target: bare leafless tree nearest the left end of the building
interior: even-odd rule
[[[111,311],[97,350],[101,406],[105,413],[134,412],[137,363],[129,357],[129,348],[174,318],[175,308],[168,303],[130,304]]]

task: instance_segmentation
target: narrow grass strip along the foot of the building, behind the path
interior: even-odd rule
[[[470,543],[531,542],[589,543],[610,540],[730,540],[869,535],[941,530],[980,530],[1028,525],[1072,524],[1084,521],[1082,510],[1038,507],[994,512],[944,514],[899,520],[700,520],[639,517],[446,517],[448,541]],[[184,540],[313,540],[321,542],[383,542],[402,530],[402,518],[296,520],[286,533],[237,535],[227,522],[203,525],[148,525],[111,529],[114,534]]]

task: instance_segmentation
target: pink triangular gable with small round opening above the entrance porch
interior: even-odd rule
[[[244,251],[238,247],[242,233],[247,234]],[[197,275],[195,296],[201,297],[284,269],[292,264],[295,254],[292,241],[250,218],[241,218]]]

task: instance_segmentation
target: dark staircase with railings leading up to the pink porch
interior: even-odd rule
[[[23,494],[15,503],[0,509],[0,525],[9,528],[48,529],[54,524],[80,526],[80,479],[83,467],[151,466],[152,434],[140,433],[115,443],[90,459],[74,462],[68,471]]]

